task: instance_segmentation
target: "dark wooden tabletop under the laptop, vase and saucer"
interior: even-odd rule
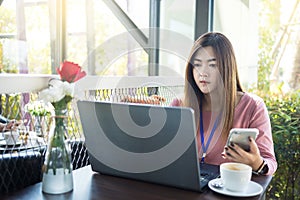
[[[203,193],[198,193],[125,178],[100,175],[96,172],[93,172],[90,166],[73,171],[73,178],[74,189],[69,193],[60,195],[44,194],[42,192],[42,184],[37,183],[12,194],[0,196],[0,199],[234,199],[233,197],[215,193],[210,189],[207,189]],[[263,198],[271,179],[271,176],[253,175],[252,180],[262,185],[264,191],[259,196],[247,197],[243,199]]]

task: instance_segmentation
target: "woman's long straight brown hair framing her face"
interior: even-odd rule
[[[209,32],[200,36],[194,43],[190,57],[186,65],[185,72],[185,99],[184,106],[195,110],[195,118],[199,119],[199,104],[202,101],[203,93],[198,88],[193,76],[193,58],[195,53],[203,47],[212,47],[220,77],[223,83],[223,93],[220,96],[220,103],[223,106],[222,136],[227,137],[232,128],[234,118],[234,108],[237,101],[237,91],[242,91],[240,84],[236,58],[231,42],[228,38],[217,32]],[[197,124],[199,128],[199,123]]]

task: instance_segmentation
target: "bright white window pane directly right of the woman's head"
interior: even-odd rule
[[[257,83],[258,0],[214,1],[214,31],[224,33],[232,42],[242,84]]]

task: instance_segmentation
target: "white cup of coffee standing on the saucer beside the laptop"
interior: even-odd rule
[[[247,189],[252,176],[252,168],[242,163],[222,163],[220,174],[224,187],[234,192],[243,192]]]

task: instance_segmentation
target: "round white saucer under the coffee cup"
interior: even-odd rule
[[[227,190],[225,188],[216,188],[213,186],[214,182],[219,182],[221,181],[220,178],[216,178],[213,179],[211,181],[209,181],[208,183],[208,187],[220,194],[224,194],[224,195],[228,195],[228,196],[233,196],[233,197],[251,197],[251,196],[256,196],[259,195],[260,193],[262,193],[263,188],[261,185],[259,185],[258,183],[255,183],[253,181],[251,181],[248,185],[248,188],[246,189],[246,191],[244,192],[233,192],[230,190]]]

